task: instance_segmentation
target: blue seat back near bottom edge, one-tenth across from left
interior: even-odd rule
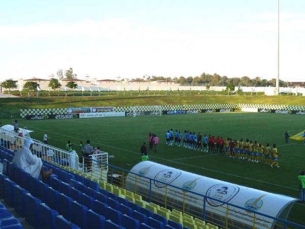
[[[24,195],[24,209],[25,209],[25,220],[31,224],[34,228],[38,227],[38,217],[40,212],[38,206],[41,204],[41,200],[27,193]]]

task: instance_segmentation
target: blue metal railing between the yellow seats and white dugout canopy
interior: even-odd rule
[[[92,158],[88,160],[94,161]],[[106,165],[104,165],[106,167]],[[191,190],[176,187],[171,184],[151,179],[129,170],[107,164],[108,174],[105,178],[93,178],[104,180],[112,185],[125,188],[139,194],[146,202],[152,202],[169,210],[176,209],[182,213],[190,214],[220,228],[303,228],[305,225],[290,222],[285,219],[269,216],[257,211],[230,204],[220,199],[212,198]],[[126,183],[129,176],[133,185]],[[163,188],[156,188],[158,183]],[[217,203],[215,207],[211,203]],[[201,207],[198,207],[200,205]],[[290,210],[290,209],[289,209]]]

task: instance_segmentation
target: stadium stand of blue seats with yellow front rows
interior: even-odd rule
[[[44,183],[13,165],[13,156],[13,151],[0,146],[3,164],[0,197],[4,197],[5,202],[34,228],[218,229],[177,210],[147,203],[140,195],[124,188],[91,180],[79,171],[55,163],[43,161],[47,169],[53,169],[53,175]],[[1,207],[0,204],[0,210]],[[4,210],[0,215],[0,228],[22,228],[11,213]]]

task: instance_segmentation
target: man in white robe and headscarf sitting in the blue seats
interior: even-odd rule
[[[52,169],[49,169],[48,171],[44,170],[41,159],[31,152],[33,144],[34,141],[32,139],[25,139],[24,146],[17,150],[12,163],[31,174],[31,176],[36,179],[39,178],[39,175],[41,174],[42,179],[46,180],[51,176]]]

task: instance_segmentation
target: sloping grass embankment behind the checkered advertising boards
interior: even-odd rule
[[[143,93],[143,92],[142,92]],[[198,92],[199,93],[199,92]],[[19,118],[20,109],[29,108],[65,108],[90,106],[149,106],[149,105],[185,105],[185,104],[217,104],[217,103],[248,103],[248,104],[283,104],[304,105],[304,96],[228,96],[202,95],[197,92],[187,92],[185,95],[172,93],[170,95],[156,95],[150,93],[119,96],[84,96],[84,97],[38,97],[38,98],[0,98],[0,119]],[[202,93],[202,92],[200,92]]]

